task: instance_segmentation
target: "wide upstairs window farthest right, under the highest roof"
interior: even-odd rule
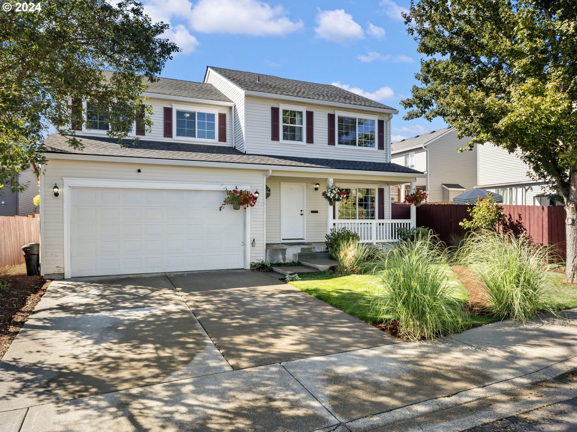
[[[377,118],[337,112],[336,133],[339,146],[376,149]]]

